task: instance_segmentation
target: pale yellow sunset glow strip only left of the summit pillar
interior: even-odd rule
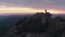
[[[0,13],[29,13],[29,12],[41,12],[42,10],[36,10],[31,8],[0,8]]]

